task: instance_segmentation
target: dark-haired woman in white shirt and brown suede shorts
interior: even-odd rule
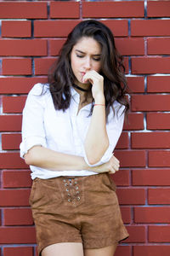
[[[112,256],[127,238],[108,173],[128,103],[122,57],[110,29],[79,23],[49,84],[31,89],[20,155],[31,166],[30,203],[42,256]]]

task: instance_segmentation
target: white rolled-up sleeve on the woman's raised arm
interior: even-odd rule
[[[119,109],[118,109],[119,108]],[[106,149],[105,154],[101,157],[101,159],[95,163],[94,165],[89,164],[87,155],[84,150],[84,160],[88,164],[88,166],[100,166],[111,159],[113,155],[113,151],[116,147],[116,143],[119,140],[119,137],[122,133],[122,126],[124,123],[124,106],[120,108],[120,104],[116,104],[116,113],[109,114],[108,123],[106,124],[107,135],[109,137],[109,147]]]

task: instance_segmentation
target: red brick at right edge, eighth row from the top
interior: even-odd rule
[[[132,148],[169,148],[170,132],[135,132],[131,140]]]

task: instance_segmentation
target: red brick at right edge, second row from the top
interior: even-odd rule
[[[131,35],[135,37],[159,37],[170,35],[170,20],[131,20]]]

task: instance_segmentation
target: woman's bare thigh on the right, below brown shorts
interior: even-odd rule
[[[113,256],[116,251],[116,247],[117,244],[99,249],[86,249],[84,250],[84,256]]]

